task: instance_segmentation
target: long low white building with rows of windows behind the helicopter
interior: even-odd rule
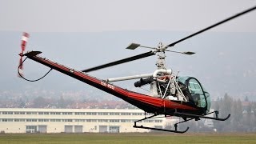
[[[151,114],[146,114],[150,116]],[[28,109],[0,108],[2,133],[128,133],[149,132],[134,128],[145,118],[138,109]],[[137,126],[164,128],[177,119],[154,118]]]

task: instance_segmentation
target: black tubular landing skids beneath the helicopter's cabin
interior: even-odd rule
[[[208,114],[213,114],[213,113],[215,114],[215,118],[206,116]],[[197,114],[186,114],[186,113],[174,112],[174,114],[173,114],[174,116],[185,118],[184,121],[177,122],[177,123],[174,124],[175,130],[160,129],[160,128],[155,128],[155,127],[142,126],[142,125],[137,126],[137,122],[141,122],[141,121],[149,119],[149,118],[162,118],[162,117],[157,117],[159,114],[154,114],[150,117],[145,117],[145,118],[139,119],[138,121],[135,121],[134,122],[134,128],[148,129],[148,130],[160,130],[160,131],[167,131],[167,132],[172,132],[172,133],[183,134],[183,133],[186,133],[186,131],[189,130],[190,127],[187,127],[186,130],[180,131],[180,130],[178,130],[178,124],[180,124],[180,123],[188,122],[188,121],[193,120],[193,119],[198,121],[198,120],[200,120],[200,118],[214,119],[214,120],[217,120],[217,121],[226,121],[226,119],[230,118],[230,114],[226,118],[218,118],[218,111],[213,111],[213,112],[210,112],[208,114],[197,115]],[[170,117],[170,116],[165,116],[165,117]],[[189,119],[186,119],[186,118],[189,118]]]

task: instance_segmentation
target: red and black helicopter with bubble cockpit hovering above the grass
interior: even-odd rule
[[[244,10],[241,13],[235,14],[229,18],[226,18],[220,22],[215,23],[214,25],[208,26],[205,29],[199,30],[194,34],[190,34],[185,38],[179,39],[176,42],[170,43],[169,45],[163,45],[162,42],[159,42],[158,46],[142,46],[138,43],[131,43],[130,46],[126,47],[129,50],[135,50],[138,47],[150,49],[150,51],[138,54],[129,58],[123,58],[115,62],[109,62],[101,66],[95,66],[86,70],[75,70],[68,66],[64,66],[57,62],[51,61],[50,59],[43,58],[39,54],[41,51],[28,51],[24,54],[26,48],[26,42],[29,38],[29,34],[23,33],[22,36],[22,51],[19,54],[20,62],[18,66],[18,74],[21,78],[24,78],[26,81],[36,82],[50,73],[51,70],[57,70],[62,74],[66,74],[72,78],[75,78],[81,82],[85,82],[90,86],[94,86],[99,90],[103,90],[106,93],[112,94],[122,100],[129,102],[131,105],[138,107],[145,111],[145,118],[139,119],[134,122],[134,128],[148,129],[148,130],[161,130],[173,133],[185,133],[189,130],[189,127],[186,130],[179,130],[178,124],[183,122],[188,122],[190,120],[198,121],[201,118],[212,119],[216,121],[226,121],[230,118],[230,114],[226,118],[219,118],[219,112],[217,110],[210,111],[210,94],[202,86],[202,83],[198,81],[197,78],[190,76],[179,76],[178,73],[174,73],[173,70],[166,67],[166,52],[174,52],[179,54],[195,54],[191,51],[180,52],[175,50],[168,50],[168,48],[173,47],[179,42],[183,42],[188,38],[192,38],[195,35],[201,34],[206,30],[210,30],[216,26],[221,25],[224,22],[228,22],[231,19],[238,18],[242,14],[249,13],[256,9],[256,6],[251,7],[248,10]],[[119,78],[107,78],[99,79],[88,74],[94,70],[100,70],[110,66],[116,66],[122,63],[131,62],[141,58],[150,57],[157,55],[158,59],[155,65],[157,69],[154,70],[151,74],[138,74],[126,77]],[[23,57],[26,57],[22,60]],[[26,79],[22,74],[23,62],[29,58],[35,62],[38,62],[44,66],[50,67],[50,70],[36,80]],[[135,87],[141,87],[150,85],[150,94],[140,94],[131,90],[123,89],[122,87],[115,86],[112,82],[126,81],[137,79],[137,82],[134,82]],[[151,114],[146,116],[146,113]],[[214,116],[209,116],[214,114]],[[161,129],[149,126],[138,126],[138,122],[142,122],[150,118],[159,118],[159,117],[179,117],[182,118],[182,122],[177,122],[174,124],[174,128],[171,129]]]

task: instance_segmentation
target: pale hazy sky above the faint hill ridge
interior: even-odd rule
[[[255,0],[0,0],[0,31],[195,31],[256,5]],[[256,13],[214,31],[256,31]]]

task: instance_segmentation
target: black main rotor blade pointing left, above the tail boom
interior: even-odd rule
[[[137,59],[140,59],[140,58],[146,58],[146,57],[149,57],[149,56],[154,55],[154,54],[155,54],[154,51],[149,51],[149,52],[146,52],[146,53],[143,53],[143,54],[134,55],[133,57],[130,57],[130,58],[124,58],[124,59],[121,59],[121,60],[118,60],[118,61],[115,61],[115,62],[110,62],[110,63],[106,63],[106,64],[101,65],[101,66],[95,66],[95,67],[92,67],[90,69],[82,70],[82,72],[87,73],[87,72],[94,71],[94,70],[100,70],[100,69],[103,69],[103,68],[106,68],[106,67],[119,65],[121,63],[131,62],[131,61],[134,61],[134,60],[137,60]]]

